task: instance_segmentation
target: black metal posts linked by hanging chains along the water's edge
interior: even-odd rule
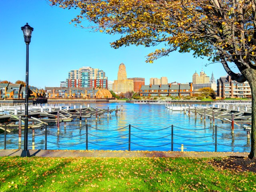
[[[4,150],[6,150],[6,145],[7,145],[7,143],[6,143],[6,136],[9,136],[9,135],[12,136],[12,137],[16,137],[17,136],[16,134],[7,133],[7,131],[6,131],[7,128],[6,127],[7,127],[7,124],[4,124],[4,132],[2,133],[2,134],[4,134],[4,140],[0,141],[0,146],[1,146],[1,143],[4,143]],[[104,146],[106,148],[107,147],[113,147],[113,146],[120,146],[120,145],[128,144],[128,151],[130,151],[131,150],[131,144],[133,144],[134,146],[142,146],[144,148],[158,148],[158,147],[162,147],[162,146],[171,145],[171,151],[173,151],[173,145],[174,144],[179,145],[179,146],[192,146],[192,147],[202,147],[202,146],[214,145],[215,146],[215,152],[217,152],[217,146],[218,145],[232,147],[231,145],[227,145],[227,144],[223,144],[223,143],[218,143],[218,140],[220,140],[220,139],[224,139],[224,140],[232,139],[232,140],[234,140],[234,136],[233,135],[232,135],[232,138],[230,138],[230,137],[218,134],[218,130],[230,131],[230,129],[222,128],[220,126],[211,126],[211,127],[208,127],[208,128],[200,128],[200,129],[190,129],[190,128],[182,128],[182,127],[171,125],[171,126],[168,126],[166,128],[161,128],[161,129],[157,129],[157,130],[150,130],[150,129],[149,130],[145,130],[145,129],[138,128],[138,127],[135,127],[135,126],[132,126],[132,125],[129,124],[128,126],[124,126],[122,128],[118,128],[118,129],[104,130],[104,129],[95,128],[95,127],[93,127],[91,125],[85,124],[83,126],[80,125],[80,126],[75,127],[75,128],[68,128],[68,130],[75,130],[75,129],[82,130],[82,128],[84,128],[84,127],[85,127],[85,131],[86,132],[83,133],[83,134],[80,133],[80,134],[76,134],[74,136],[60,136],[60,134],[59,134],[60,129],[58,129],[58,132],[57,132],[57,135],[56,135],[56,134],[52,134],[52,133],[48,132],[47,125],[44,125],[43,128],[41,128],[42,132],[40,134],[32,134],[32,136],[29,136],[29,138],[32,138],[32,145],[30,145],[30,146],[32,146],[32,149],[34,149],[35,145],[43,144],[44,143],[45,144],[45,150],[47,150],[47,143],[50,143],[52,145],[59,145],[59,146],[75,146],[75,145],[79,145],[79,144],[84,144],[85,143],[86,144],[85,149],[88,150],[88,144],[97,145],[97,146]],[[88,130],[88,127],[90,128],[90,130],[94,129],[94,130],[96,130],[98,132],[116,132],[116,131],[120,131],[120,130],[127,131],[127,129],[128,129],[128,132],[126,134],[122,134],[120,136],[103,137],[103,136],[100,136],[100,134],[98,134],[98,132],[97,132],[97,134],[93,134],[92,132],[90,132]],[[53,127],[51,129],[54,130]],[[139,130],[139,132],[137,132],[137,131],[132,132],[132,129],[133,130]],[[214,131],[214,133],[213,134],[205,133],[204,136],[194,136],[194,132],[195,131],[208,130],[208,129],[212,129]],[[182,134],[179,134],[180,130],[193,131],[193,134],[182,135]],[[144,136],[145,135],[144,132],[156,133],[156,132],[160,132],[160,131],[164,131],[164,132],[167,132],[167,133],[171,132],[171,133],[170,134],[166,134],[166,135],[162,135],[161,137],[156,137],[156,138],[147,138],[146,136]],[[231,130],[231,131],[232,132],[240,132],[240,133],[245,132],[244,130]],[[138,133],[140,133],[140,135],[138,135]],[[42,136],[42,135],[45,136],[44,141],[35,143],[35,137]],[[48,136],[58,137],[58,138],[63,138],[63,139],[67,138],[68,140],[70,140],[71,138],[80,137],[80,140],[84,140],[84,141],[83,142],[78,142],[78,143],[67,142],[66,144],[60,144],[60,143],[56,144],[55,142],[48,141],[47,140]],[[88,138],[88,136],[89,136],[89,138]],[[151,136],[152,136],[152,134],[151,134]],[[20,137],[20,135],[19,135],[19,137]],[[213,142],[206,143],[206,144],[195,144],[195,145],[192,145],[192,144],[182,144],[182,143],[176,143],[175,142],[175,140],[178,140],[178,138],[181,138],[181,139],[184,139],[184,140],[185,139],[186,140],[187,139],[198,140],[198,139],[209,138],[209,137],[214,137]],[[114,145],[104,145],[104,144],[100,144],[98,142],[97,143],[93,142],[92,138],[100,138],[101,140],[104,140],[104,141],[105,140],[108,141],[108,140],[112,140],[112,139],[122,138],[122,142],[121,143],[119,142],[118,144],[114,144]],[[134,138],[139,138],[140,140],[169,139],[170,142],[166,142],[165,141],[165,142],[162,142],[161,145],[147,146],[147,145],[143,145],[141,143],[135,142],[134,140],[136,140],[136,139],[134,139]],[[244,140],[244,139],[236,138],[236,140]],[[15,146],[15,145],[17,145],[17,142],[11,142],[10,141],[8,144],[12,144],[12,146]],[[20,139],[19,139],[19,144],[18,145],[19,145],[19,147],[21,147],[21,140]],[[238,145],[236,145],[236,147],[238,147]],[[245,145],[245,146],[241,145],[239,147],[248,147],[248,138],[247,138],[247,145]]]

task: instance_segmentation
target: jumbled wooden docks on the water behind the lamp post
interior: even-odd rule
[[[24,122],[24,112],[22,112],[22,108],[17,106],[16,108],[12,108],[14,111],[9,111],[9,114],[0,115],[0,129],[3,129],[1,124],[7,122],[13,122],[13,124],[8,124],[8,129],[15,129],[15,128],[24,128],[24,125],[21,122]],[[18,110],[19,109],[19,110]],[[48,123],[57,123],[60,122],[68,122],[72,121],[73,119],[79,118],[81,121],[82,119],[87,120],[87,118],[95,117],[100,119],[101,115],[107,113],[107,115],[111,116],[111,113],[117,113],[120,109],[116,107],[116,109],[100,109],[100,108],[76,108],[70,109],[70,106],[59,106],[58,108],[51,108],[51,107],[41,107],[40,109],[30,110],[28,113],[28,122],[32,123],[28,125],[28,128],[42,128],[45,124]],[[19,112],[18,112],[19,111]],[[19,122],[19,124],[15,124],[15,122]]]

